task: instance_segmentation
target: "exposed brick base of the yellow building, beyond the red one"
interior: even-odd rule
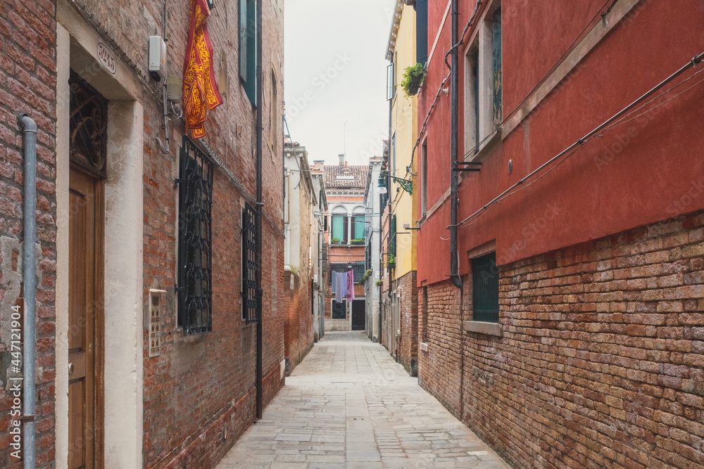
[[[401,335],[398,338],[398,361],[410,375],[417,375],[418,360],[418,292],[415,271],[393,282],[392,290],[401,295]]]

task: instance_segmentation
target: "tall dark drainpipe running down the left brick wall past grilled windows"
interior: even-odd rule
[[[257,418],[262,418],[264,412],[264,385],[263,385],[263,290],[262,290],[262,2],[257,4],[257,210],[256,210],[256,230],[257,230],[257,249],[256,249],[256,282],[257,282],[257,299],[258,299],[258,321],[257,321]],[[274,105],[274,103],[270,103]]]

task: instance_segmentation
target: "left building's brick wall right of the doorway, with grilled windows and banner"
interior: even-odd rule
[[[256,110],[238,79],[237,1],[216,3],[208,18],[215,55],[215,76],[227,63],[228,82],[220,82],[225,103],[209,113],[203,141],[225,167],[237,174],[244,191],[217,167],[213,184],[213,331],[183,338],[177,330],[175,273],[177,252],[178,147],[182,121],[172,120],[170,155],[163,155],[155,138],[163,139],[161,101],[157,85],[146,77],[144,37],[161,34],[161,3],[86,2],[87,10],[106,34],[118,41],[144,84],[144,465],[165,467],[187,461],[187,467],[212,467],[251,424],[255,406],[256,326],[241,322],[241,210],[253,205],[256,193]],[[263,103],[263,371],[264,402],[282,386],[283,358],[283,233],[282,146],[270,145],[282,136],[283,2],[265,2]],[[188,2],[169,2],[168,68],[182,75],[187,39]],[[129,25],[129,26],[128,26]],[[223,55],[224,54],[224,55]],[[221,60],[227,58],[227,62]],[[277,77],[276,113],[272,113],[272,72]],[[159,91],[161,92],[161,90]],[[272,115],[277,116],[270,122]],[[163,312],[161,355],[149,358],[146,348],[149,288],[167,290]],[[228,426],[227,439],[218,436]],[[203,451],[207,446],[208,451]],[[179,467],[179,466],[177,466]]]

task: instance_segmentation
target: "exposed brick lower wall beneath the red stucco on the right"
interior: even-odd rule
[[[429,285],[421,385],[517,468],[702,467],[703,241],[698,212],[501,266],[503,338],[460,335],[470,278]]]

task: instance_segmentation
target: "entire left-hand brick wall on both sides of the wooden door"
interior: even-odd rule
[[[75,14],[76,8],[60,2]],[[81,4],[82,2],[78,2]],[[171,152],[163,155],[160,85],[146,72],[146,37],[161,34],[161,2],[84,2],[99,24],[101,41],[115,49],[116,60],[134,71],[141,88],[134,98],[144,106],[144,467],[212,467],[253,422],[256,390],[256,326],[241,321],[241,210],[256,193],[256,108],[238,77],[237,2],[218,2],[208,19],[215,51],[215,74],[225,103],[206,122],[204,140],[241,187],[216,165],[213,186],[213,331],[184,338],[176,324],[177,177],[182,120],[172,115]],[[168,2],[168,71],[182,74],[187,40],[188,2]],[[284,315],[282,266],[283,2],[263,4],[263,334],[264,404],[282,386],[280,362]],[[56,23],[57,2],[0,5],[0,312],[1,328],[21,281],[23,156],[16,113],[37,122],[37,467],[54,467],[54,394],[56,371]],[[69,28],[70,29],[70,28]],[[73,45],[72,45],[73,48]],[[73,54],[73,49],[72,49]],[[223,59],[226,60],[223,60]],[[69,60],[68,57],[59,60]],[[94,64],[100,68],[101,65]],[[227,65],[229,79],[223,80]],[[100,69],[102,70],[102,69]],[[94,77],[83,77],[90,82]],[[277,94],[272,92],[274,82]],[[277,96],[271,112],[272,96]],[[271,117],[276,117],[271,121]],[[270,134],[273,137],[270,138]],[[108,200],[108,203],[111,201]],[[149,357],[149,289],[167,291],[161,354]],[[130,312],[130,311],[128,311]],[[127,313],[126,313],[127,314]],[[64,333],[65,334],[65,333]],[[0,337],[0,466],[9,464],[11,399],[6,393],[8,347]],[[140,397],[141,398],[141,397]],[[115,411],[115,409],[112,409]],[[222,431],[227,426],[227,438]],[[56,429],[61,432],[65,429]],[[64,433],[65,435],[65,433]],[[62,461],[63,462],[63,461]]]

